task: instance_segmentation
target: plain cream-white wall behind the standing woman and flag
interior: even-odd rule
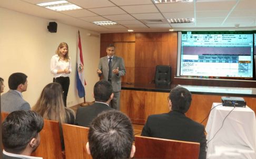
[[[48,32],[49,19],[14,12],[0,7],[0,77],[4,78],[5,90],[9,90],[8,77],[22,72],[28,76],[28,88],[23,92],[24,99],[31,105],[36,103],[43,88],[53,80],[50,73],[51,57],[61,42],[66,42],[72,58],[71,84],[68,107],[82,103],[76,90],[77,32],[80,30],[85,68],[86,102],[94,101],[93,86],[99,81],[96,69],[100,60],[100,38],[87,36],[95,33],[82,28],[58,23],[57,33]]]

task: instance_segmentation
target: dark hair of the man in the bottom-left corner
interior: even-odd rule
[[[36,112],[14,111],[2,123],[4,150],[13,154],[22,153],[32,138],[37,138],[44,120]]]

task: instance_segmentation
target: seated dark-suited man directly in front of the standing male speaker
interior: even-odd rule
[[[114,110],[109,106],[114,94],[113,87],[108,81],[99,81],[94,85],[93,97],[95,103],[86,107],[78,107],[76,112],[75,125],[89,127],[98,114],[103,111]]]

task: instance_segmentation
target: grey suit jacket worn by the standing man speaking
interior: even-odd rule
[[[112,59],[112,69],[117,69],[119,67],[119,76],[117,76],[113,71],[112,71],[112,86],[113,86],[113,91],[114,92],[120,92],[121,91],[121,77],[125,75],[126,70],[124,67],[124,60],[122,57],[114,56]],[[99,67],[98,67],[102,74],[103,74],[103,79],[107,81],[107,77],[109,76],[109,62],[107,59],[107,56],[102,57],[100,59]],[[101,76],[101,75],[99,75]]]

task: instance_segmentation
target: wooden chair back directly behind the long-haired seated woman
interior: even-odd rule
[[[44,120],[44,127],[40,136],[40,145],[31,156],[43,157],[44,159],[65,157],[62,152],[60,126],[57,121]]]

